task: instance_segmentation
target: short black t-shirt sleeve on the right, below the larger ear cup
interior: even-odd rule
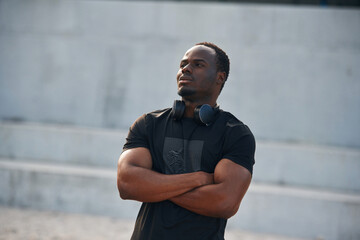
[[[255,164],[255,138],[246,125],[236,126],[228,132],[223,158],[227,158],[253,173]]]

